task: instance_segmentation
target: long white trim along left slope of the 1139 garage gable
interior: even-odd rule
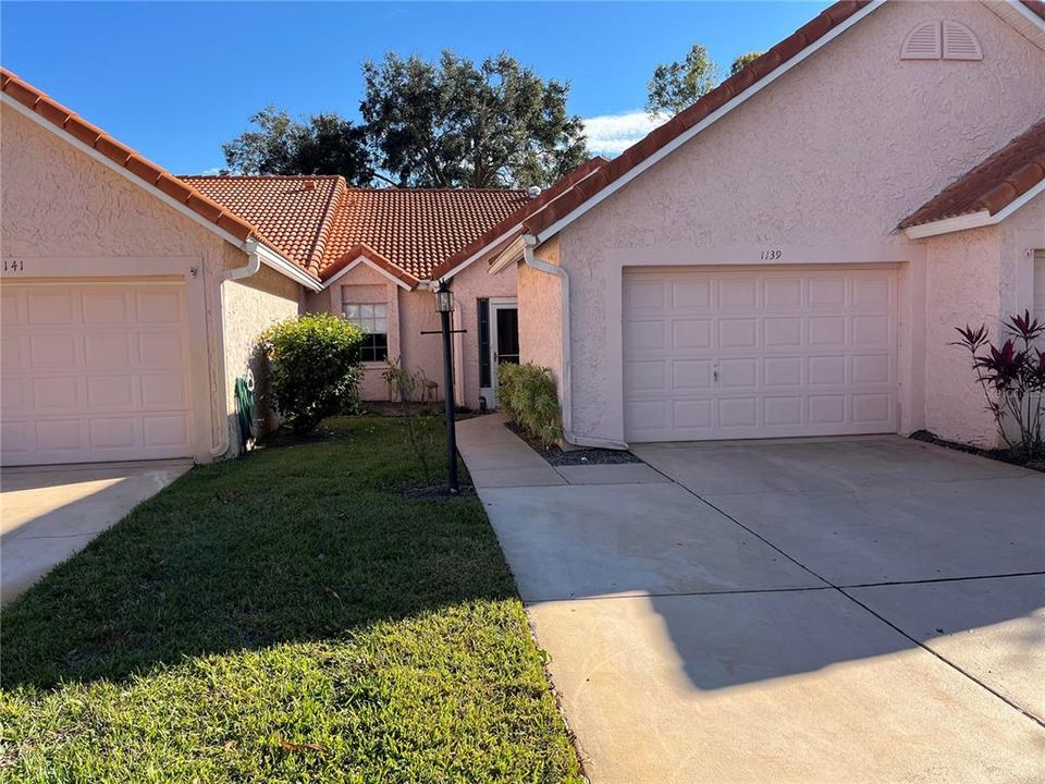
[[[576,221],[578,218],[583,216],[590,209],[601,204],[604,199],[608,198],[610,196],[615,194],[617,191],[623,188],[625,185],[627,185],[629,182],[635,180],[637,176],[642,174],[647,169],[654,166],[659,161],[663,160],[664,158],[669,156],[672,152],[674,152],[676,149],[681,147],[684,144],[692,139],[697,134],[699,134],[705,127],[721,120],[723,117],[728,114],[738,106],[747,101],[749,98],[751,98],[752,96],[761,91],[763,88],[771,85],[773,82],[778,79],[785,73],[790,71],[792,68],[798,65],[803,60],[806,60],[806,58],[810,57],[811,54],[815,53],[823,47],[827,46],[827,44],[833,41],[835,38],[840,36],[847,29],[849,29],[855,24],[863,20],[865,16],[877,11],[878,8],[881,8],[885,2],[886,0],[873,0],[872,2],[868,3],[862,9],[860,9],[859,11],[857,11],[855,14],[852,14],[845,22],[836,25],[834,28],[831,29],[831,32],[821,36],[821,38],[817,39],[814,44],[802,49],[798,54],[792,57],[786,63],[778,65],[775,70],[771,71],[769,74],[760,78],[753,85],[751,85],[746,90],[743,90],[740,95],[730,99],[727,103],[716,109],[714,112],[709,114],[706,118],[701,120],[691,128],[676,136],[674,139],[668,142],[666,145],[661,147],[651,156],[640,161],[635,167],[632,167],[627,172],[625,172],[623,175],[620,175],[619,177],[614,180],[612,183],[606,185],[604,188],[602,188],[601,191],[592,195],[590,198],[586,199],[581,205],[579,205],[571,212],[568,212],[567,215],[560,218],[557,221],[552,223],[552,225],[550,225],[548,229],[544,229],[543,231],[539,232],[537,234],[538,243],[539,244],[544,243],[549,238],[551,238],[558,232],[561,232],[563,229],[565,229],[567,225],[569,225],[570,223]]]

